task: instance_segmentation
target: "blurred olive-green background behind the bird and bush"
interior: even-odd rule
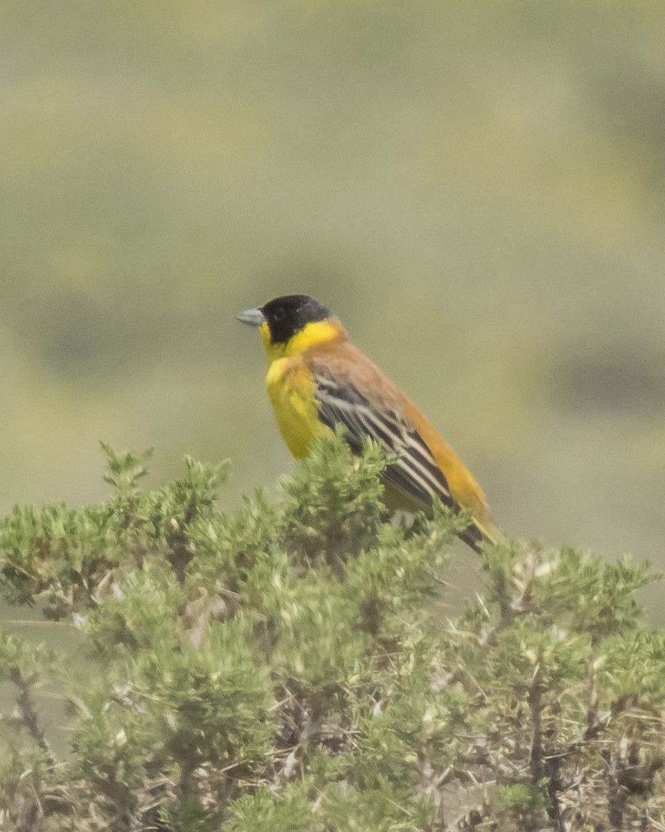
[[[665,567],[665,6],[0,7],[0,510],[98,442],[291,461],[234,314],[304,292],[511,535]]]

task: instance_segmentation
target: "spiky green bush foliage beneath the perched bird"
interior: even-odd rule
[[[100,506],[15,508],[4,597],[76,627],[86,662],[0,631],[2,828],[665,829],[665,638],[646,566],[520,542],[464,551],[485,592],[446,616],[465,518],[382,508],[385,461],[337,436],[224,513],[227,466],[104,447]],[[58,680],[69,750],[42,727]]]

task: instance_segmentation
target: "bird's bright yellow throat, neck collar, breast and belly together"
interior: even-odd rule
[[[330,433],[330,428],[318,418],[312,374],[298,356],[314,344],[338,337],[339,331],[339,324],[317,321],[305,326],[287,344],[272,344],[268,325],[259,329],[270,363],[266,377],[268,398],[279,432],[296,459],[308,456],[314,439]]]

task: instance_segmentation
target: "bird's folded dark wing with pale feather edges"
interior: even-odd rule
[[[350,379],[340,379],[318,368],[314,374],[318,418],[329,428],[342,424],[346,441],[359,453],[362,440],[370,437],[385,448],[397,462],[387,465],[383,477],[409,501],[420,508],[431,505],[432,498],[451,508],[459,508],[444,473],[430,449],[413,425],[387,404],[377,404],[361,393]]]

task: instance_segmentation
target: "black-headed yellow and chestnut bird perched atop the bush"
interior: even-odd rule
[[[341,321],[308,295],[283,295],[236,318],[259,328],[268,356],[266,387],[278,428],[296,459],[337,425],[353,453],[367,437],[391,458],[382,472],[388,508],[431,514],[432,501],[470,512],[458,536],[475,552],[502,534],[485,494],[421,411]]]

